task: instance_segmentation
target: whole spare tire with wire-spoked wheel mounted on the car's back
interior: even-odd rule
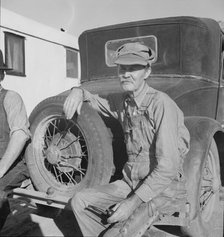
[[[80,189],[109,182],[113,151],[99,114],[84,103],[81,114],[67,120],[65,98],[47,98],[31,113],[32,141],[25,159],[37,190],[71,197]]]

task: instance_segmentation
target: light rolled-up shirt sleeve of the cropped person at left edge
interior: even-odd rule
[[[15,91],[8,91],[4,99],[4,108],[7,114],[10,136],[15,131],[22,130],[29,139],[31,137],[30,124],[21,96]]]

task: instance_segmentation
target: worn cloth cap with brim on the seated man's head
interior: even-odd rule
[[[140,64],[151,65],[155,58],[155,52],[139,42],[126,43],[120,46],[116,51],[115,64],[134,65]]]

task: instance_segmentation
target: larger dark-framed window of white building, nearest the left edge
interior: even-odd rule
[[[25,75],[25,38],[10,32],[5,33],[5,63],[12,70],[7,74]]]

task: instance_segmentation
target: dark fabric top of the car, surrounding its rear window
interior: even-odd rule
[[[222,32],[209,18],[167,17],[84,31],[79,37],[81,81],[116,77],[105,62],[108,41],[153,35],[158,42],[154,75],[192,75],[218,80]]]

